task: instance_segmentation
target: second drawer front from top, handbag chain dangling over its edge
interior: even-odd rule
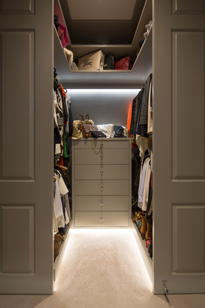
[[[101,149],[99,153],[95,153],[89,149],[76,149],[74,151],[75,165],[126,165],[129,164],[128,149]],[[100,156],[103,156],[102,158]]]

